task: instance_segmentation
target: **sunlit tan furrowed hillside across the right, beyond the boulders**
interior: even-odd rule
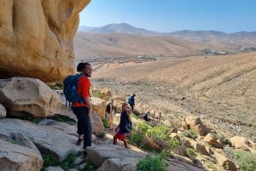
[[[137,94],[136,107],[173,120],[195,114],[256,140],[256,53],[95,64],[95,86]]]

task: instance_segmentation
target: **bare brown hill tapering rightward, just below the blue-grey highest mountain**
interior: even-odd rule
[[[187,56],[200,54],[203,44],[170,36],[137,36],[125,33],[84,33],[74,38],[76,60],[105,59],[123,56]]]

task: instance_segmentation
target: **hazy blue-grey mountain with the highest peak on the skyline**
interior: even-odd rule
[[[120,24],[109,24],[107,26],[102,27],[88,27],[88,26],[80,26],[79,31],[82,32],[90,32],[90,33],[109,33],[109,32],[121,32],[132,35],[153,35],[158,34],[154,31],[148,31],[143,28],[137,28],[135,26],[128,25],[126,23]]]

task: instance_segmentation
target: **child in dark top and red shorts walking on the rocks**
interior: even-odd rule
[[[127,108],[128,104],[123,103],[122,112],[120,116],[120,123],[117,126],[117,128],[115,128],[116,134],[113,136],[113,145],[117,144],[117,140],[122,140],[124,142],[125,148],[128,148],[128,144],[126,141],[125,124],[129,122],[131,123],[131,110]]]

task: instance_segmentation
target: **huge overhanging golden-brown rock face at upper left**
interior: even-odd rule
[[[90,0],[0,2],[0,78],[61,82],[74,72],[73,37]]]

